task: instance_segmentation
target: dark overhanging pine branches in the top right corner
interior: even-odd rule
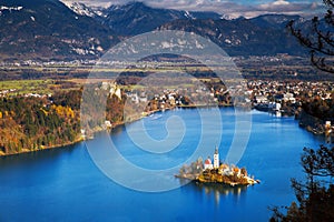
[[[310,50],[311,62],[317,69],[334,73],[334,0],[323,0],[327,7],[324,18],[314,17],[310,30],[302,30],[295,26],[295,21],[287,24],[291,33]]]

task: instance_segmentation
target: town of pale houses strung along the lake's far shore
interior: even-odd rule
[[[205,87],[178,87],[177,89],[129,88],[119,85],[115,81],[102,82],[96,90],[106,90],[110,95],[115,94],[120,100],[126,98],[135,104],[146,107],[146,114],[151,111],[173,109],[175,107],[205,107],[205,105],[234,105],[230,94],[240,95],[244,101],[238,104],[247,104],[259,111],[273,112],[277,117],[297,117],[302,111],[303,102],[313,99],[328,100],[333,97],[334,83],[330,81],[275,81],[275,80],[249,80],[247,91],[243,87],[226,89],[222,83],[207,81]],[[19,89],[2,89],[0,97],[26,97],[26,98],[52,98],[52,93],[29,92],[21,93]],[[143,113],[145,114],[145,113]],[[323,130],[311,129],[316,134],[332,134],[333,120],[323,121]],[[326,131],[324,130],[326,129]]]

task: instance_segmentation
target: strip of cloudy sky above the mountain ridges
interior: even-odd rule
[[[62,0],[87,6],[109,7],[134,0]],[[188,11],[215,11],[230,17],[252,18],[265,13],[285,13],[312,17],[325,12],[322,0],[138,0],[156,8]]]

